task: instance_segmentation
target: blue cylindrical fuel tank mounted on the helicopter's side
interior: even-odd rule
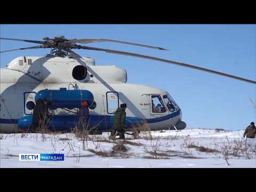
[[[51,108],[79,108],[85,100],[89,102],[90,107],[94,101],[93,94],[88,90],[40,90],[35,95],[35,101],[45,97],[52,102]]]

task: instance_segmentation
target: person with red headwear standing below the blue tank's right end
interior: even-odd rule
[[[78,129],[88,129],[88,123],[89,123],[89,102],[84,101],[81,103],[81,109],[77,113],[78,117]]]

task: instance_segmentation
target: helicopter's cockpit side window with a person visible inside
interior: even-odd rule
[[[150,108],[150,118],[157,118],[167,115],[168,112],[164,105],[164,101],[161,95],[150,95],[151,97],[151,108]]]

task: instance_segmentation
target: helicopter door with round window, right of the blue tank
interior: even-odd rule
[[[108,114],[114,114],[119,107],[118,92],[107,92],[107,112]]]

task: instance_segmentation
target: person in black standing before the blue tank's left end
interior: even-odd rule
[[[51,115],[48,114],[49,105],[51,105],[51,101],[47,101],[46,98],[37,99],[32,117],[33,130],[35,130],[37,127],[42,128],[43,125],[47,124],[49,118],[51,117]]]

